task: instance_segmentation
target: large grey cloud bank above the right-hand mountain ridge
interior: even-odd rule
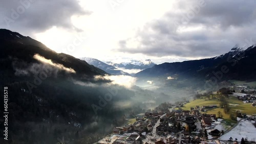
[[[121,40],[118,51],[157,57],[213,57],[237,43],[255,44],[253,0],[178,1],[174,7],[146,23],[135,37]]]

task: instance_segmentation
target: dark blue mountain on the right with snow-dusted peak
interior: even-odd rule
[[[231,51],[218,57],[183,62],[162,63],[135,74],[135,77],[212,80],[256,80],[256,46],[234,46]],[[217,72],[218,71],[218,72]],[[219,76],[219,77],[218,77]]]

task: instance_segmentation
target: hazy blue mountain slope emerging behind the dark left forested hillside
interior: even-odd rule
[[[115,66],[106,64],[106,63],[104,63],[100,60],[97,60],[97,59],[94,59],[94,58],[88,58],[88,57],[84,57],[84,58],[80,58],[80,59],[88,62],[91,65],[94,65],[94,66],[106,71],[106,73],[109,73],[111,75],[127,75],[127,76],[129,76],[128,73],[125,73],[124,71],[116,68]]]

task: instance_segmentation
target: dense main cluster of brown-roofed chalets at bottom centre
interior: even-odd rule
[[[218,140],[226,130],[220,125],[222,119],[217,119],[216,114],[203,113],[205,109],[216,108],[216,105],[191,107],[190,111],[176,107],[179,106],[146,112],[133,124],[115,127],[113,134],[97,143],[234,143]]]

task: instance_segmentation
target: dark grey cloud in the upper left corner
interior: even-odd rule
[[[76,30],[72,15],[90,14],[74,0],[8,0],[0,2],[1,28],[42,32],[53,26]]]

